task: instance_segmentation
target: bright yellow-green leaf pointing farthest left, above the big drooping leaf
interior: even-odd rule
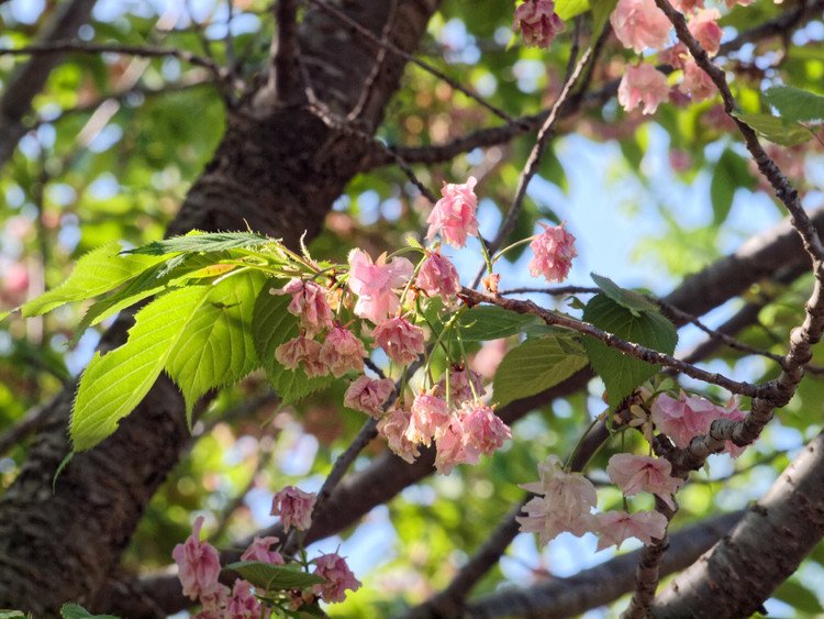
[[[82,256],[68,279],[57,288],[25,303],[24,317],[46,313],[64,303],[91,299],[125,284],[160,258],[154,256],[125,256],[120,244],[109,243]]]

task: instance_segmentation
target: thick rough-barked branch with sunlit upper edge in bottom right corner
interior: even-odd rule
[[[824,537],[824,434],[712,550],[658,596],[654,617],[749,617]]]

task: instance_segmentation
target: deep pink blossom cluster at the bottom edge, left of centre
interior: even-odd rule
[[[311,513],[315,496],[310,493],[288,486],[275,495],[272,513],[279,515],[283,527],[288,530],[294,527],[305,530],[311,523]],[[198,619],[265,619],[269,617],[267,604],[261,603],[260,595],[267,594],[267,600],[276,599],[272,592],[258,592],[243,578],[236,578],[232,588],[222,584],[220,554],[207,541],[200,540],[203,517],[198,517],[192,527],[191,535],[182,544],[177,544],[171,553],[178,566],[178,577],[182,585],[183,595],[198,600],[201,610],[196,615]],[[253,561],[269,565],[285,565],[287,560],[272,550],[279,539],[272,535],[256,537],[241,555],[241,561]],[[307,589],[289,589],[281,594],[279,600],[283,609],[298,610],[322,599],[326,603],[343,601],[346,590],[357,590],[360,582],[346,564],[346,560],[337,553],[327,553],[307,562],[304,568],[314,566],[312,574],[323,578],[323,583],[312,585]]]

